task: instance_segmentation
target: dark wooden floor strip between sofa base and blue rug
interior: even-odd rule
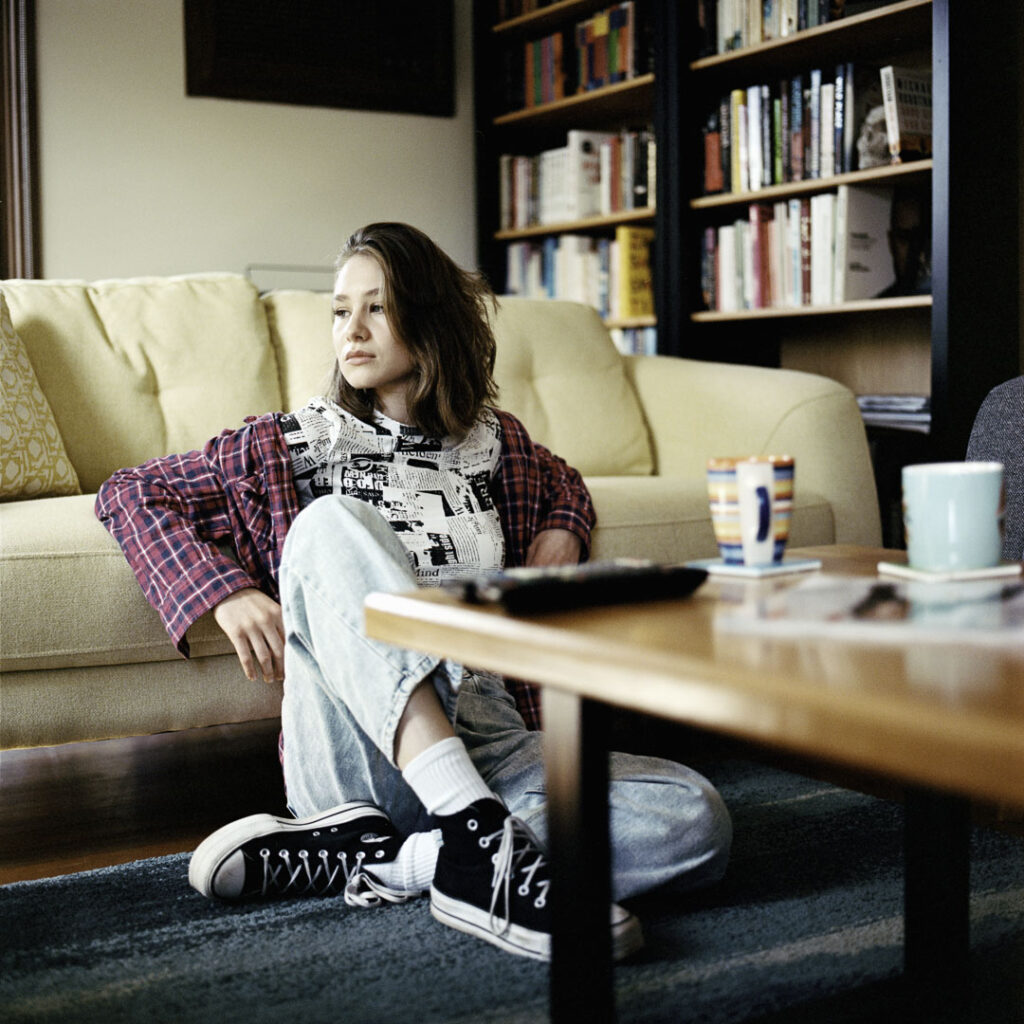
[[[276,722],[0,751],[0,885],[193,850],[285,812]]]

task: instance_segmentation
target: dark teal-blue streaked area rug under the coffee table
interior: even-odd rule
[[[615,972],[623,1022],[896,1019],[902,812],[755,765],[703,765],[729,803],[726,881],[635,904],[647,948]],[[186,855],[0,889],[0,1021],[531,1024],[548,971],[443,928],[425,900],[224,906]],[[1024,1021],[1024,842],[972,842],[975,1004]],[[585,1022],[583,1022],[585,1024]]]

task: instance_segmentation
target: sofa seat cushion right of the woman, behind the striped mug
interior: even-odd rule
[[[651,558],[681,562],[716,558],[703,477],[587,477],[597,510],[591,558]],[[790,547],[836,543],[831,506],[819,495],[798,493]]]

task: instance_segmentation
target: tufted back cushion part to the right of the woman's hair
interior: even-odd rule
[[[495,322],[500,404],[585,475],[653,471],[640,402],[596,310],[503,298]]]

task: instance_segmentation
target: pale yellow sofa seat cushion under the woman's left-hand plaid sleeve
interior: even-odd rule
[[[180,659],[94,501],[0,505],[0,672]],[[188,640],[196,655],[231,650],[212,615]]]

